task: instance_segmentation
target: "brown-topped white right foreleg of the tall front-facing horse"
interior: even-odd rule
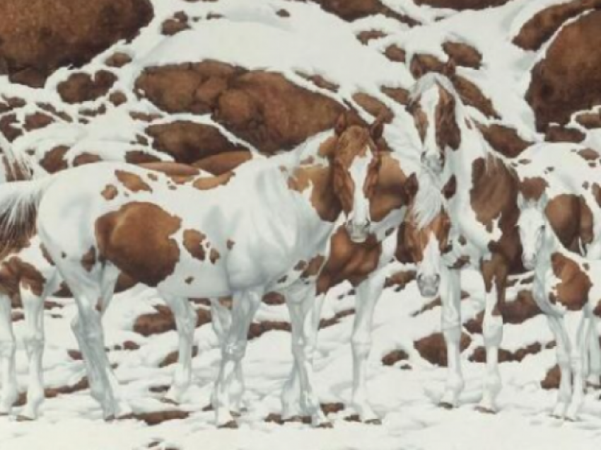
[[[503,304],[507,280],[507,266],[500,255],[482,262],[485,287],[484,346],[486,347],[486,376],[482,400],[477,407],[481,412],[496,412],[496,397],[501,391],[501,374],[498,370],[498,349],[503,340]]]

